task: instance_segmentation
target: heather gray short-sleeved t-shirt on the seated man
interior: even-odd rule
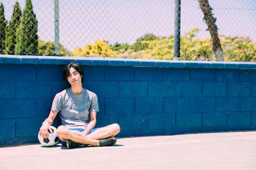
[[[71,88],[67,88],[55,95],[52,110],[60,114],[63,126],[86,129],[90,112],[99,111],[98,98],[95,93],[85,88],[80,95],[74,94]]]

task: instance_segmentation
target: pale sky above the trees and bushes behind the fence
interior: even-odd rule
[[[6,20],[17,1],[23,11],[25,0],[0,0]],[[54,0],[32,0],[32,4],[39,38],[54,41]],[[209,0],[209,4],[219,34],[248,36],[256,42],[255,0]],[[198,38],[210,37],[198,0],[181,0],[181,5],[181,35],[198,28]],[[70,50],[96,40],[133,44],[146,33],[174,35],[174,0],[59,0],[59,10],[60,42]]]

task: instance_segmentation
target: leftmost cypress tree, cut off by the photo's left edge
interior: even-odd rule
[[[0,5],[0,54],[4,54],[7,21],[4,18],[4,5]]]

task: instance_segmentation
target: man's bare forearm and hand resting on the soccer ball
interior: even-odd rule
[[[46,139],[49,136],[48,135],[48,130],[51,133],[53,133],[52,129],[50,128],[50,126],[53,124],[53,121],[54,121],[54,119],[55,119],[57,114],[58,113],[53,111],[53,110],[50,111],[49,116],[47,117],[47,119],[45,119],[45,121],[43,122],[43,124],[42,124],[42,126],[40,128],[40,131],[39,131],[39,135],[40,136],[43,135],[43,137]]]

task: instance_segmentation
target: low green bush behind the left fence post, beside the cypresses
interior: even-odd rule
[[[54,42],[44,42],[38,40],[38,54],[39,55],[55,55],[55,43]],[[70,51],[65,49],[63,45],[60,44],[60,55],[67,56],[70,55]]]

